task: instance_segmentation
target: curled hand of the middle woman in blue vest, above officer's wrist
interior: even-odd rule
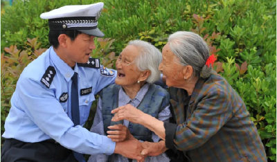
[[[111,138],[111,141],[122,142],[129,139],[134,139],[134,136],[130,134],[129,129],[125,125],[112,125],[108,127],[109,129],[115,129],[113,131],[107,131],[108,138]]]

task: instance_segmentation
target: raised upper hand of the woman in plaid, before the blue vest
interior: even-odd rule
[[[141,116],[143,116],[143,111],[136,109],[136,107],[133,107],[132,105],[125,105],[123,107],[118,107],[111,111],[112,114],[115,114],[113,118],[111,118],[111,121],[120,121],[120,120],[128,120],[129,122],[138,124],[139,119]]]

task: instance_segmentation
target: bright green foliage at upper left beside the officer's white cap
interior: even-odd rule
[[[60,8],[70,4],[95,3],[94,0],[31,0],[13,1],[12,6],[6,8],[1,16],[1,52],[6,46],[17,44],[17,48],[23,49],[27,38],[38,37],[43,48],[48,48],[48,21],[41,19],[43,12]]]

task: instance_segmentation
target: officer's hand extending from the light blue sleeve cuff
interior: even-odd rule
[[[136,161],[144,161],[144,157],[141,155],[142,150],[141,142],[132,139],[116,143],[114,154],[121,154],[129,159],[136,159]]]

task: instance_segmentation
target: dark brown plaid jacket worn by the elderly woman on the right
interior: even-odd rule
[[[215,71],[209,78],[198,80],[187,109],[186,90],[170,87],[169,91],[177,124],[165,123],[168,148],[177,148],[197,162],[267,161],[242,98]],[[168,133],[170,129],[173,136]]]

